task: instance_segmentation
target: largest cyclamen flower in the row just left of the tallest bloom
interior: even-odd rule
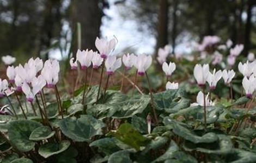
[[[81,64],[81,69],[86,70],[91,64],[93,59],[93,50],[88,51],[80,51],[80,49],[77,50],[76,58]]]

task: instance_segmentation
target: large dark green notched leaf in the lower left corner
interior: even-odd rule
[[[21,152],[31,151],[35,146],[35,142],[29,140],[29,136],[36,128],[41,126],[41,123],[29,120],[16,120],[9,122],[8,135],[11,144]]]

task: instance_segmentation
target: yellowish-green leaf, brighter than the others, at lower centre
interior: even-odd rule
[[[149,139],[141,135],[130,123],[121,124],[117,131],[111,131],[108,135],[115,136],[118,140],[135,148],[137,151],[149,142]]]

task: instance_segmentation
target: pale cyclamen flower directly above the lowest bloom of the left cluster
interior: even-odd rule
[[[31,83],[32,79],[36,76],[36,68],[35,66],[29,66],[28,64],[25,64],[25,67],[23,67],[21,64],[17,67],[15,67],[15,72],[17,75],[20,76],[20,78],[26,82]]]

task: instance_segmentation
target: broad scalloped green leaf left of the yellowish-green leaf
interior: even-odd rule
[[[91,137],[102,134],[101,128],[105,124],[93,116],[81,115],[80,118],[65,118],[59,122],[59,127],[65,136],[74,141],[90,142]]]

